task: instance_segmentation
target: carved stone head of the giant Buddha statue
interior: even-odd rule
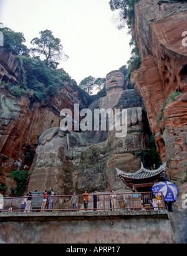
[[[106,92],[123,91],[125,89],[125,76],[122,71],[112,71],[106,76]]]

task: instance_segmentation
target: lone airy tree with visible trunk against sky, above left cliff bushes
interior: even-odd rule
[[[57,61],[60,59],[67,59],[68,56],[63,52],[63,46],[60,44],[60,39],[55,38],[49,29],[39,32],[40,38],[35,37],[32,39],[31,44],[36,46],[32,48],[32,52],[37,52],[45,57],[46,66],[57,67],[59,64]]]

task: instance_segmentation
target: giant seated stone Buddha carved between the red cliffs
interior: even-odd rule
[[[109,156],[122,150],[146,147],[146,143],[141,141],[144,140],[141,132],[143,102],[134,89],[127,89],[127,85],[128,82],[122,71],[109,72],[106,76],[107,95],[89,106],[92,112],[98,108],[127,109],[129,131],[127,138],[115,138],[114,133],[108,130],[75,132],[62,131],[60,127],[46,130],[39,138],[36,155],[29,171],[28,191],[46,190],[50,187],[58,194],[71,193],[73,190],[79,192],[86,187],[90,190],[93,188],[100,190],[105,161]],[[103,152],[103,149],[107,151]],[[121,168],[120,165],[117,167]],[[70,184],[67,182],[69,179]],[[111,179],[113,179],[112,175]],[[119,184],[122,185],[121,181]]]

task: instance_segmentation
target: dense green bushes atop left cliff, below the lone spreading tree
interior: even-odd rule
[[[39,57],[18,56],[20,62],[19,82],[22,89],[33,90],[38,101],[49,101],[49,96],[55,96],[64,82],[74,84],[64,69],[46,66]],[[76,85],[76,84],[75,84]]]

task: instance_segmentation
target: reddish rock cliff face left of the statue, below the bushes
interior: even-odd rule
[[[8,91],[0,92],[0,183],[15,185],[6,177],[12,168],[29,170],[37,146],[37,135],[50,127],[59,126],[60,110],[74,109],[79,103],[78,92],[66,84],[50,103],[44,104],[29,97],[17,98]],[[7,190],[7,194],[9,194]]]

